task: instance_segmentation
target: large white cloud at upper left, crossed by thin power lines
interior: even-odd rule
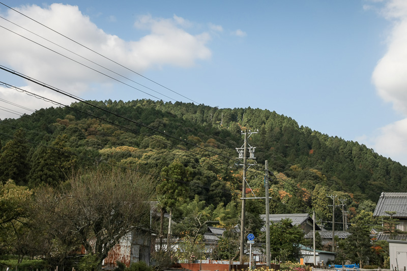
[[[169,19],[157,19],[152,16],[140,17],[136,21],[135,26],[146,29],[149,34],[139,40],[125,41],[118,36],[106,34],[88,16],[83,15],[77,6],[52,4],[42,8],[36,5],[26,5],[16,9],[50,26],[55,31],[139,73],[166,65],[186,68],[193,67],[196,61],[205,61],[211,57],[211,50],[207,46],[208,41],[211,39],[210,35],[206,32],[196,35],[189,34],[183,27],[190,27],[192,24],[176,15]],[[6,12],[5,10],[3,11]],[[128,70],[119,69],[119,66],[109,62],[107,59],[57,35],[12,10],[7,10],[6,13],[1,15],[110,70],[114,70],[127,77],[130,74]],[[115,18],[109,17],[108,19],[112,21]],[[7,21],[2,20],[2,25],[78,62],[123,80],[123,78],[111,74],[103,68],[97,67],[83,58],[44,41]],[[92,88],[99,88],[99,86],[102,88],[112,82],[112,79],[100,73],[80,66],[5,29],[0,29],[0,35],[2,36],[2,41],[7,41],[0,42],[0,51],[7,52],[0,54],[0,63],[18,72],[78,96]],[[30,84],[30,86],[32,88],[39,88],[34,84]],[[34,109],[39,108],[38,106],[33,106],[36,107]],[[1,111],[0,118],[4,118],[4,114]]]

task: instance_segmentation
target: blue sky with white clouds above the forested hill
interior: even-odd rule
[[[405,0],[0,2],[0,67],[86,100],[268,109],[407,166]],[[0,118],[38,98],[0,85]]]

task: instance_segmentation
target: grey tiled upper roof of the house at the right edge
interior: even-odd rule
[[[385,212],[396,212],[395,218],[407,218],[407,193],[384,193],[380,195],[373,216],[389,216]]]

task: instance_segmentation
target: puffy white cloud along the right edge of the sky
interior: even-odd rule
[[[407,2],[388,0],[381,14],[394,24],[387,52],[377,63],[372,82],[379,96],[407,117]],[[379,135],[370,141],[378,153],[407,165],[406,139],[407,118],[404,118],[381,128]]]

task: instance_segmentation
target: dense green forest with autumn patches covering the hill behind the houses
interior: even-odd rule
[[[35,189],[57,187],[79,170],[125,168],[150,176],[156,190],[150,200],[173,219],[199,209],[230,229],[239,220],[243,175],[236,148],[246,130],[257,132],[248,139],[257,164],[248,169],[253,192],[247,193],[264,196],[268,160],[277,176],[270,186],[272,214],[315,210],[329,228],[327,194],[345,200],[353,218],[361,208],[372,212],[381,192],[407,189],[407,167],[274,111],[151,100],[86,101],[3,119],[0,179]],[[259,231],[256,215],[264,214],[264,201],[247,205],[248,225]],[[188,224],[179,227],[185,232]]]

